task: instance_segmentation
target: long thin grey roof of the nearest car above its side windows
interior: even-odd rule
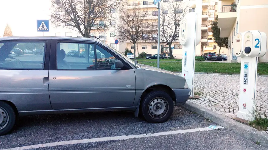
[[[96,38],[80,38],[80,37],[53,37],[53,36],[7,36],[0,37],[0,41],[3,40],[23,40],[23,39],[34,39],[34,40],[51,40],[51,39],[61,39],[61,40],[85,40],[85,41],[96,41],[101,42],[101,40]]]

